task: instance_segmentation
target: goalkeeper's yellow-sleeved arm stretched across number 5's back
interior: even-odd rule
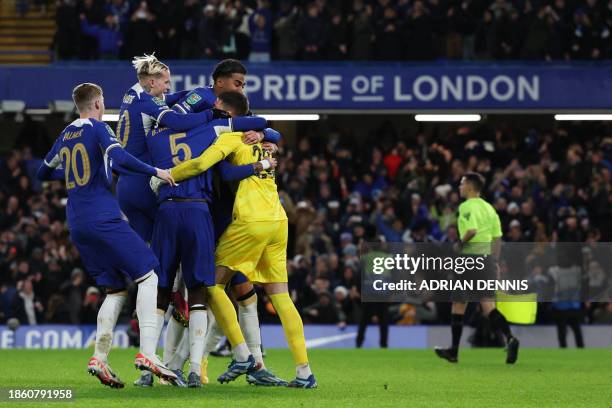
[[[195,159],[182,162],[170,169],[172,178],[182,181],[206,170],[225,159],[242,144],[242,132],[223,133],[216,142]]]

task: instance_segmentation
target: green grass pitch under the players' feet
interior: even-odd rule
[[[515,366],[501,349],[461,351],[451,365],[432,350],[309,351],[316,390],[263,388],[244,378],[202,389],[132,386],[135,350],[113,350],[110,362],[126,388],[110,389],[86,373],[91,350],[0,350],[0,387],[71,388],[70,403],[16,407],[612,407],[612,350],[521,350]],[[287,350],[268,350],[266,364],[291,379]],[[211,358],[216,378],[229,360]],[[0,402],[0,405],[9,405]]]

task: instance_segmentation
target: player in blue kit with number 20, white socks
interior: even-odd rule
[[[121,218],[117,200],[110,191],[110,167],[174,182],[167,171],[145,164],[123,150],[111,128],[101,122],[104,114],[102,88],[91,83],[80,84],[74,88],[72,97],[80,118],[62,131],[37,176],[41,180],[58,177],[65,180],[68,190],[66,217],[71,239],[87,272],[107,293],[98,312],[95,352],[89,360],[88,371],[104,385],[124,386],[108,364],[108,353],[115,324],[127,298],[126,278],[130,278],[138,284],[136,313],[140,352],[135,365],[174,382],[176,375],[155,354],[158,277],[154,269],[159,262]]]

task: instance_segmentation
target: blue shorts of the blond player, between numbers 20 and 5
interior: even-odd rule
[[[157,197],[149,187],[149,178],[122,175],[117,182],[119,208],[145,242],[151,242],[157,212]]]

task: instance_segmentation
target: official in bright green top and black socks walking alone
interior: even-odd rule
[[[461,241],[457,249],[461,255],[487,255],[487,268],[489,279],[495,279],[499,271],[499,254],[501,249],[501,223],[497,212],[480,197],[485,181],[478,173],[467,173],[461,179],[459,194],[465,201],[459,206],[459,237]],[[485,273],[486,274],[486,273]],[[519,341],[512,335],[508,321],[503,314],[495,308],[495,301],[491,297],[480,300],[482,312],[491,322],[491,328],[501,331],[506,337],[508,352],[506,363],[514,364],[518,358]],[[459,343],[463,331],[463,315],[467,302],[453,302],[451,315],[452,346],[450,348],[436,348],[436,354],[451,363],[458,361]]]

